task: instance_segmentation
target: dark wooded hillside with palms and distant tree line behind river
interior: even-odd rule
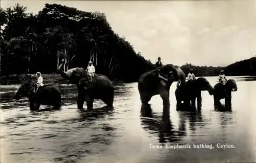
[[[156,68],[112,30],[104,13],[58,4],[45,4],[37,14],[26,11],[20,4],[0,8],[0,26],[4,27],[0,32],[1,76],[54,74],[62,59],[69,68],[86,68],[91,60],[97,73],[125,82],[135,82]],[[195,69],[196,76],[217,76],[223,68],[232,75],[249,75],[255,69],[255,58],[227,67],[185,64],[181,68],[185,74]]]

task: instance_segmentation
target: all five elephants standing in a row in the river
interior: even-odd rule
[[[114,85],[108,77],[95,74],[92,82],[88,73],[80,67],[63,72],[60,65],[59,74],[69,80],[68,84],[75,84],[78,89],[77,108],[83,109],[86,101],[87,109],[93,108],[94,100],[102,100],[107,106],[112,107],[114,101]],[[229,79],[225,85],[217,83],[214,87],[202,77],[194,82],[186,82],[184,72],[179,66],[166,64],[160,68],[142,74],[138,80],[138,90],[142,104],[147,104],[155,95],[160,95],[163,102],[163,112],[169,114],[169,89],[174,81],[180,81],[175,90],[177,106],[190,104],[190,106],[201,108],[201,91],[207,90],[210,96],[214,96],[215,107],[220,105],[220,100],[225,99],[225,108],[231,109],[231,91],[237,91],[236,81]],[[53,106],[55,109],[61,107],[61,95],[59,89],[54,85],[44,85],[36,91],[36,80],[29,77],[17,89],[14,98],[19,100],[28,97],[31,110],[38,110],[40,105]],[[183,104],[182,104],[183,101]]]

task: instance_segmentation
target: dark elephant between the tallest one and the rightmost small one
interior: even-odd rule
[[[210,83],[205,78],[198,78],[195,81],[188,81],[183,86],[177,87],[175,90],[175,96],[177,100],[177,105],[184,101],[185,105],[190,104],[193,108],[196,107],[196,99],[198,109],[202,107],[202,96],[201,91],[208,90],[209,95],[213,95],[213,88]]]

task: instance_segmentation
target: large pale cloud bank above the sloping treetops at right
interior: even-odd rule
[[[171,12],[142,14],[113,13],[111,26],[131,42],[135,51],[153,62],[182,65],[227,65],[256,54],[256,37],[237,26],[202,27],[197,32],[180,24]]]

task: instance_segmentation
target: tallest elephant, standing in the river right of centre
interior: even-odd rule
[[[169,89],[174,81],[185,83],[185,74],[179,66],[166,64],[160,68],[142,74],[138,80],[138,89],[142,104],[147,104],[155,95],[163,100],[163,112],[169,115]]]

